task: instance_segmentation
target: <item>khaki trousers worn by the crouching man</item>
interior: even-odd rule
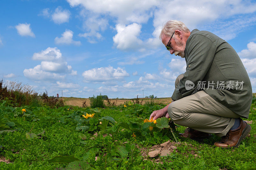
[[[177,88],[183,74],[175,81]],[[168,107],[171,120],[181,126],[224,136],[241,116],[210,97],[204,90],[172,102]]]

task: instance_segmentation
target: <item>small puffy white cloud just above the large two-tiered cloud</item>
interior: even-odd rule
[[[74,44],[74,45],[81,45],[80,41],[74,41],[73,40],[73,31],[66,29],[64,33],[62,33],[62,37],[56,37],[55,43],[56,44]]]

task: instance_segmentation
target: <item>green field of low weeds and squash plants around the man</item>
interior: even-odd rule
[[[64,106],[11,107],[0,102],[0,169],[256,169],[256,102],[251,106],[250,136],[238,148],[213,146],[212,135],[202,143],[180,138],[170,122],[144,120],[165,105],[126,102],[105,108]],[[22,112],[26,109],[26,112]],[[84,118],[86,113],[94,114]],[[149,130],[149,127],[153,130]],[[3,131],[4,130],[4,131]],[[169,141],[161,148],[159,144]],[[169,150],[167,156],[149,151]],[[159,151],[159,153],[160,153]],[[69,157],[68,157],[69,156]],[[97,158],[97,160],[95,160]]]

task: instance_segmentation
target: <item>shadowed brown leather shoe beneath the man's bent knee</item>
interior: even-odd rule
[[[206,138],[209,138],[211,134],[204,133],[195,129],[186,128],[185,133],[179,133],[181,137],[187,137],[197,141],[203,141]]]

